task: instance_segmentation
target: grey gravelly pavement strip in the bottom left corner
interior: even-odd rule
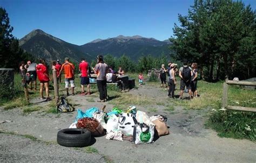
[[[100,154],[0,133],[0,162],[105,162]]]

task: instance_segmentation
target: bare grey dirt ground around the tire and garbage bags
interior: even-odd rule
[[[130,90],[125,93],[129,95],[144,95],[149,98],[157,99],[167,98],[167,91],[163,88],[151,87],[147,84],[139,86],[138,89]],[[111,96],[111,95],[110,95]],[[80,108],[86,110],[91,107],[102,108],[103,103],[97,103],[96,96],[69,96],[72,104],[79,104],[76,109]],[[87,100],[86,100],[87,99]],[[90,99],[90,100],[89,100]],[[95,102],[93,102],[95,101]],[[33,100],[37,103],[38,100]],[[113,105],[106,102],[107,110],[111,110]],[[48,102],[37,103],[45,107]],[[132,104],[132,101],[131,101]],[[186,110],[183,107],[174,106],[174,111],[166,111],[164,104],[159,105],[137,105],[138,110],[146,111],[149,116],[162,114],[167,116],[168,124],[170,126],[171,134],[160,137],[153,144],[134,145],[129,141],[115,141],[107,140],[105,136],[97,137],[96,142],[92,145],[98,150],[98,153],[86,153],[89,157],[78,157],[75,162],[256,162],[256,144],[250,140],[237,140],[230,138],[220,138],[217,133],[211,129],[205,129],[204,123],[207,118],[208,109],[205,110]],[[155,111],[151,109],[154,108]],[[61,147],[56,144],[57,132],[60,129],[69,127],[75,120],[77,112],[63,113],[63,114],[46,114],[43,111],[31,112],[31,114],[23,115],[21,109],[3,110],[0,108],[0,122],[7,121],[0,124],[0,131],[14,132],[17,134],[29,134],[36,137],[40,142],[34,142],[30,145],[31,148],[37,146],[45,146],[51,142],[56,148],[69,153],[77,151],[75,148]],[[8,157],[15,157],[11,152],[12,146],[20,141],[28,141],[28,138],[21,138],[1,133],[0,137],[0,161],[8,162]],[[13,141],[12,141],[13,138]],[[21,139],[21,140],[19,140]],[[6,141],[4,141],[6,140]],[[8,145],[10,144],[10,145]],[[31,148],[24,148],[18,146],[17,151],[19,155],[29,155],[27,150]],[[58,149],[59,151],[61,151]],[[56,150],[56,151],[58,151]],[[65,152],[59,152],[59,157],[64,157]],[[54,157],[56,153],[49,153],[46,147],[41,150],[42,156],[46,154],[52,157],[52,161],[57,161]],[[40,155],[41,155],[40,154]],[[76,154],[76,153],[75,153]],[[5,155],[5,157],[4,157]],[[106,156],[109,159],[102,159]],[[30,155],[29,155],[30,157]],[[6,159],[7,158],[7,159]],[[22,157],[21,157],[22,158]],[[97,161],[96,161],[97,160]],[[2,162],[1,161],[1,162]],[[25,162],[25,159],[16,159],[10,162]],[[40,161],[38,159],[37,161]],[[48,161],[48,160],[45,160]],[[43,162],[45,162],[43,160]],[[60,162],[69,162],[71,160],[63,159]],[[41,160],[42,162],[42,160]]]

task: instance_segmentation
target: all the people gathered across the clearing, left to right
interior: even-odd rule
[[[56,70],[57,74],[57,83],[61,83],[61,75],[64,72],[65,75],[65,89],[66,95],[69,96],[69,86],[71,86],[71,95],[75,95],[75,66],[70,62],[69,58],[65,58],[65,62],[61,64],[59,60],[52,61],[52,70]],[[79,72],[80,72],[80,85],[81,93],[80,95],[90,95],[90,74],[96,74],[97,87],[99,91],[99,101],[107,101],[107,89],[106,84],[109,82],[118,82],[118,76],[124,75],[125,72],[122,67],[119,67],[118,72],[114,72],[112,67],[109,67],[103,60],[102,55],[97,56],[97,64],[95,67],[91,68],[89,63],[83,58],[79,63]],[[43,100],[43,90],[45,87],[46,100],[50,100],[49,97],[49,81],[51,80],[48,72],[48,66],[44,59],[40,59],[39,63],[28,61],[26,64],[24,61],[19,65],[19,71],[22,75],[22,83],[24,89],[32,90],[32,83],[34,84],[34,89],[37,90],[37,77],[40,81],[40,99]],[[178,70],[177,64],[169,62],[168,68],[165,68],[165,65],[161,65],[159,78],[161,80],[161,87],[166,86],[166,73],[167,81],[169,86],[168,96],[174,98],[174,90],[176,88],[177,79],[176,75],[180,77],[180,99],[183,99],[183,92],[185,87],[188,89],[189,98],[197,97],[197,76],[198,76],[198,66],[197,63],[192,63],[191,67],[188,66],[187,61],[184,61],[184,64]],[[143,74],[140,73],[139,84],[143,84]],[[28,88],[28,85],[30,86]],[[87,91],[85,93],[85,86],[87,85]]]

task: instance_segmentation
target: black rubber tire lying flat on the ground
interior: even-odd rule
[[[66,147],[85,147],[91,143],[91,132],[86,129],[59,130],[57,143]]]

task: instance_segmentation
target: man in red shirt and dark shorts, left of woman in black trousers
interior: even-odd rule
[[[80,95],[90,95],[90,80],[88,76],[88,69],[89,69],[89,64],[85,61],[84,58],[81,59],[81,63],[79,64],[79,70],[81,72],[81,88],[82,88],[82,93]],[[85,94],[84,92],[84,85],[87,85],[87,93]]]

